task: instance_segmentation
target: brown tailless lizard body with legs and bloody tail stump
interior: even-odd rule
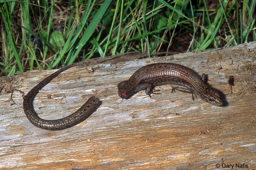
[[[195,95],[210,104],[222,105],[219,93],[205,82],[205,78],[205,74],[200,78],[193,70],[179,64],[155,63],[141,67],[129,80],[119,83],[118,95],[123,99],[129,98],[138,91],[146,89],[146,94],[150,96],[150,94],[159,94],[155,93],[155,86],[173,84],[185,88],[172,87],[172,92],[178,90],[192,93],[193,100]]]

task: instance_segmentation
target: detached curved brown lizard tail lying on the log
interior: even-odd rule
[[[94,97],[90,97],[85,104],[81,108],[79,108],[76,112],[71,115],[57,119],[57,120],[45,120],[38,117],[38,115],[34,112],[31,106],[31,100],[38,93],[40,89],[42,89],[47,83],[49,83],[53,78],[59,75],[61,72],[69,69],[70,67],[78,66],[84,63],[76,63],[71,64],[69,66],[65,66],[62,69],[54,72],[34,88],[32,88],[28,94],[24,97],[23,101],[23,109],[24,112],[29,119],[29,121],[38,128],[45,130],[62,130],[69,128],[71,126],[77,125],[80,122],[84,121],[88,118],[99,106],[100,102]]]

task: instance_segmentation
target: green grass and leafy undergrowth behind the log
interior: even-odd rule
[[[129,51],[200,52],[255,41],[255,2],[0,0],[0,75]]]

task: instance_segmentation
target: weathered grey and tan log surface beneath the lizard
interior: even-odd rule
[[[0,168],[231,169],[215,167],[222,163],[234,165],[233,169],[255,168],[255,47],[252,42],[117,64],[110,60],[86,66],[91,71],[71,68],[38,93],[34,99],[38,115],[65,117],[90,96],[99,98],[101,105],[86,121],[60,131],[33,126],[22,108],[11,105],[6,85],[0,96]],[[156,62],[174,62],[208,74],[209,83],[222,92],[226,104],[192,101],[191,94],[171,93],[171,85],[157,87],[162,95],[151,99],[145,91],[128,100],[117,95],[120,81]],[[54,71],[19,74],[11,85],[27,93]],[[230,76],[235,77],[234,86],[228,84]],[[13,100],[22,106],[20,92],[14,92]],[[236,168],[236,164],[249,167]]]

